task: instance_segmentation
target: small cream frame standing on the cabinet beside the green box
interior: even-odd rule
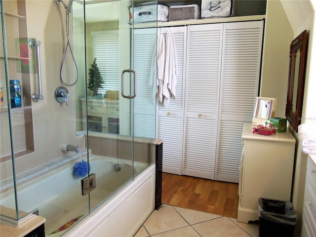
[[[257,97],[253,113],[252,124],[266,124],[274,117],[276,98]]]

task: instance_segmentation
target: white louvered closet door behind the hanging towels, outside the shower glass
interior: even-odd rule
[[[158,103],[158,138],[163,140],[162,171],[181,175],[184,118],[184,69],[186,59],[187,27],[163,27],[164,37],[172,30],[177,48],[177,97],[170,97],[169,106]]]

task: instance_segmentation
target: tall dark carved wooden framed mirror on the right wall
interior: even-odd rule
[[[307,55],[307,31],[302,32],[290,45],[290,65],[287,85],[285,116],[298,132],[301,124]]]

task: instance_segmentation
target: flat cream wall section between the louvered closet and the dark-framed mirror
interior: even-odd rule
[[[285,118],[289,45],[293,37],[293,30],[281,2],[268,0],[260,96],[277,98],[276,118]]]

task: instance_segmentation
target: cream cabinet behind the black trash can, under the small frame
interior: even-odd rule
[[[290,201],[295,138],[290,131],[269,136],[252,133],[245,123],[241,138],[239,203],[237,221],[259,219],[258,199]]]

